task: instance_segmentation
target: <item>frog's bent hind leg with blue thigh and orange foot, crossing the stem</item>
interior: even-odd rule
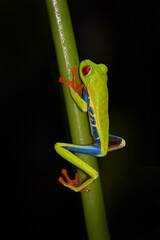
[[[95,169],[93,169],[91,166],[89,166],[87,163],[82,161],[80,158],[75,156],[72,153],[72,151],[97,156],[99,155],[99,152],[100,152],[98,144],[94,143],[92,145],[77,145],[77,144],[68,144],[68,143],[56,143],[55,150],[61,157],[63,157],[64,159],[66,159],[67,161],[69,161],[79,169],[83,170],[90,176],[88,180],[79,184],[77,173],[75,175],[75,180],[71,180],[68,177],[67,171],[63,169],[62,174],[65,176],[67,182],[65,182],[62,177],[59,178],[59,181],[65,187],[68,187],[75,192],[88,191],[85,188],[98,177],[98,172]]]

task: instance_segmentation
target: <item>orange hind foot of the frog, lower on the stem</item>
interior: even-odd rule
[[[63,177],[59,177],[59,182],[62,183],[65,187],[70,188],[70,186],[72,187],[79,187],[82,183],[84,183],[86,181],[86,179],[83,179],[83,181],[81,182],[81,184],[79,183],[78,180],[78,173],[75,173],[75,179],[71,180],[70,177],[68,176],[67,170],[66,169],[62,169],[61,173],[64,175],[64,177],[66,178],[67,182],[65,182],[63,180]],[[89,189],[82,189],[80,190],[80,192],[90,192],[91,190]]]

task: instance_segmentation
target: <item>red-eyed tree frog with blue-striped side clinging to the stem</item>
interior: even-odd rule
[[[76,83],[76,71],[76,68],[72,69],[72,81],[66,81],[63,77],[60,77],[59,82],[69,87],[71,96],[77,106],[83,112],[88,112],[93,143],[90,145],[78,145],[58,142],[55,144],[55,150],[64,159],[90,176],[88,180],[80,184],[77,173],[75,174],[75,179],[71,180],[67,174],[67,170],[63,169],[62,174],[65,176],[67,182],[62,177],[59,178],[59,181],[65,187],[75,192],[87,192],[89,191],[86,189],[87,185],[98,178],[98,172],[72,152],[103,157],[109,151],[124,147],[126,143],[120,137],[109,135],[107,66],[104,64],[95,64],[90,60],[82,61],[79,67],[80,77],[83,82],[81,85]],[[81,97],[82,89],[83,96]]]

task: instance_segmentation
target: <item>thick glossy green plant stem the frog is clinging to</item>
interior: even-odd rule
[[[46,3],[60,75],[67,80],[71,80],[71,69],[73,67],[78,69],[79,58],[68,5],[66,0],[46,0]],[[77,79],[80,83],[78,74]],[[87,114],[82,113],[79,110],[72,100],[68,88],[64,85],[63,92],[69,118],[72,142],[82,145],[89,144],[91,142],[91,137]],[[83,161],[98,170],[97,159],[95,157],[84,154],[77,155]],[[79,178],[83,179],[85,174],[80,170],[78,170],[78,172]],[[95,180],[89,188],[91,189],[91,192],[84,192],[81,194],[88,238],[90,240],[109,240],[110,236],[105,215],[100,178]]]

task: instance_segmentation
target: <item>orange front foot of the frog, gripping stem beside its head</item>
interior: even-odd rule
[[[72,68],[72,75],[73,75],[72,81],[66,81],[63,77],[60,77],[59,82],[64,83],[66,86],[73,88],[73,90],[81,96],[81,91],[84,88],[84,84],[82,83],[79,85],[76,83],[76,72],[77,72],[77,69]]]

